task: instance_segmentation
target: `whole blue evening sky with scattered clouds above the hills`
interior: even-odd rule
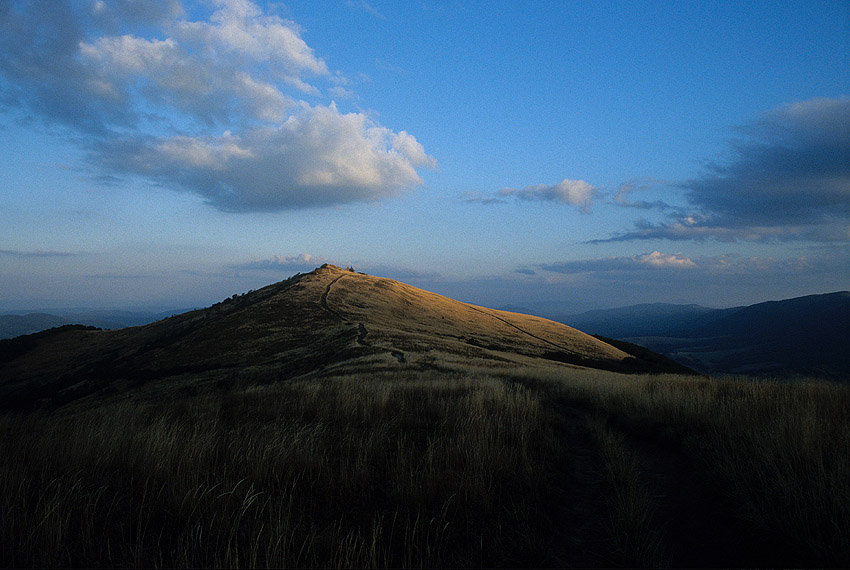
[[[0,0],[0,311],[326,262],[538,314],[850,289],[850,3]]]

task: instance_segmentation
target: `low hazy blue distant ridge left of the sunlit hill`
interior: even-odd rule
[[[101,329],[120,329],[158,321],[177,311],[164,313],[120,310],[56,310],[48,312],[18,312],[0,315],[0,339],[32,334],[62,325],[85,325]],[[181,311],[182,312],[182,311]]]

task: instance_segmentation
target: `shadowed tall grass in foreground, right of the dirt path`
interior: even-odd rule
[[[850,564],[848,386],[592,371],[532,381],[690,457],[768,565]]]

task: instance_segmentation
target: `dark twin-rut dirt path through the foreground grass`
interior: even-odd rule
[[[552,565],[640,565],[628,552],[617,551],[613,529],[618,517],[628,513],[618,513],[609,500],[614,489],[590,427],[595,412],[567,400],[559,401],[557,412],[562,418],[558,432],[566,450],[562,466],[566,476],[553,497],[563,507],[555,521]],[[607,427],[622,435],[624,448],[640,466],[640,488],[652,502],[649,528],[660,537],[665,567],[752,567],[775,558],[766,545],[748,540],[728,504],[684,452],[615,423]]]

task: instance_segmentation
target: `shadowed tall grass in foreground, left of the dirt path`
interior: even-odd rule
[[[331,378],[0,418],[8,566],[538,565],[539,395]]]

